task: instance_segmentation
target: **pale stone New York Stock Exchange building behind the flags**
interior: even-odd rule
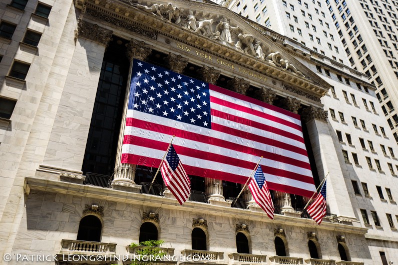
[[[170,265],[398,262],[398,148],[363,73],[212,2],[5,0],[0,10],[2,264],[130,264],[145,240],[163,240],[159,251],[178,258],[155,263]],[[151,184],[156,167],[122,163],[130,80],[151,70],[137,62],[301,120],[314,189],[328,175],[321,224],[303,210],[309,197],[272,184],[273,219],[247,188],[238,197],[249,174],[189,174],[180,205],[161,176]],[[167,146],[177,133],[164,133]],[[145,135],[131,145],[145,152]]]

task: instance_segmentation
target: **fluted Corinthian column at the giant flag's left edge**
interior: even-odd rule
[[[130,69],[133,64],[133,59],[145,60],[146,57],[151,52],[152,52],[151,45],[146,44],[144,41],[132,38],[130,43],[127,45],[127,54],[126,54],[130,59]],[[126,128],[127,107],[130,97],[130,79],[131,79],[131,71],[129,73],[129,79],[127,82],[128,84],[126,87],[126,97],[123,106],[123,118],[119,134],[118,151],[116,156],[116,166],[115,166],[114,179],[112,181],[112,188],[139,192],[141,186],[136,185],[136,183],[134,182],[137,165],[129,163],[121,163],[123,137]]]

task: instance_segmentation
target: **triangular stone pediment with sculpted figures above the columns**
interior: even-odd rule
[[[149,32],[143,34],[144,37],[156,38],[151,32],[172,36],[278,78],[282,83],[303,89],[317,98],[330,87],[297,60],[291,51],[264,33],[260,25],[249,23],[217,4],[192,0],[174,0],[173,3],[161,0],[85,0],[81,5],[83,16],[96,16],[105,23],[126,29],[131,29],[133,24],[139,25]],[[98,16],[99,12],[102,16]],[[310,56],[307,57],[309,59]]]

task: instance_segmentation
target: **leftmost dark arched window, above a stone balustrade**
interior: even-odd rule
[[[84,216],[79,223],[77,240],[83,241],[101,241],[101,220],[95,215]]]

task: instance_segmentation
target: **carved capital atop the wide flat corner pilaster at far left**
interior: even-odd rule
[[[78,27],[75,29],[75,41],[78,37],[83,37],[108,46],[109,41],[111,41],[112,33],[112,30],[83,21],[79,18]]]

